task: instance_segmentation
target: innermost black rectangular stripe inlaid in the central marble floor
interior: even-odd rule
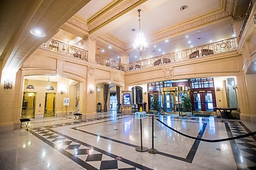
[[[131,116],[130,116],[131,117]],[[126,117],[125,117],[126,118]],[[121,119],[121,118],[119,118]],[[109,120],[108,120],[109,121]],[[105,122],[108,122],[108,121],[105,121]],[[103,123],[103,122],[101,122]],[[90,124],[90,125],[93,125],[93,124]],[[89,126],[89,125],[86,125],[86,126]],[[197,135],[198,138],[202,138],[203,134],[204,134],[204,131],[206,129],[206,126],[207,126],[207,123],[204,123],[203,124],[203,127],[201,128],[201,130],[199,131],[199,134]],[[81,127],[81,126],[80,126]],[[74,129],[74,130],[77,130],[77,131],[80,131],[80,132],[83,132],[83,133],[87,133],[87,134],[90,134],[90,135],[93,135],[93,136],[99,136],[103,139],[106,139],[106,140],[111,140],[111,141],[114,141],[114,142],[117,142],[117,143],[121,143],[121,144],[124,144],[124,145],[128,145],[130,147],[133,147],[133,148],[136,148],[138,147],[137,145],[135,144],[131,144],[131,143],[127,143],[127,142],[123,142],[123,141],[120,141],[120,140],[116,140],[116,139],[112,139],[110,137],[106,137],[106,136],[102,136],[102,135],[98,135],[98,134],[95,134],[95,133],[91,133],[91,132],[88,132],[88,131],[84,131],[84,130],[80,130],[80,129],[77,129],[78,127],[74,127],[74,128],[71,128],[71,129]],[[171,154],[168,154],[168,153],[164,153],[164,152],[159,152],[158,154],[159,155],[162,155],[162,156],[166,156],[166,157],[169,157],[169,158],[174,158],[174,159],[177,159],[177,160],[181,160],[181,161],[184,161],[184,162],[188,162],[188,163],[192,163],[195,155],[196,155],[196,152],[198,150],[198,147],[199,147],[199,143],[200,143],[200,140],[195,140],[192,147],[190,148],[186,158],[182,158],[182,157],[179,157],[179,156],[175,156],[175,155],[171,155]]]

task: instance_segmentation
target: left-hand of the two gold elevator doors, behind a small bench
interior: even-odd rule
[[[24,92],[22,102],[22,118],[35,118],[35,92]]]

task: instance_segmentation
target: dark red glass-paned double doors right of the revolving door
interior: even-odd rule
[[[202,90],[193,92],[194,111],[214,111],[216,106],[214,90]]]

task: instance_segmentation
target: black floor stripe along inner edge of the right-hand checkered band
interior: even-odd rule
[[[225,128],[226,128],[226,131],[227,131],[227,136],[228,137],[233,137],[232,132],[231,132],[229,126],[228,126],[228,123],[225,123]],[[238,145],[237,145],[236,141],[235,140],[229,140],[229,143],[230,143],[231,150],[232,150],[232,153],[233,153],[233,156],[234,156],[234,161],[236,162],[236,165],[237,165],[237,169],[238,170],[246,169],[244,163],[241,160],[241,153],[238,149]]]

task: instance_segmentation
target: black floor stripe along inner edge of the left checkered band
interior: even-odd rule
[[[68,139],[70,139],[70,140],[73,140],[73,141],[75,141],[75,142],[77,142],[77,143],[80,143],[80,144],[82,144],[82,145],[84,145],[84,146],[86,146],[86,147],[88,147],[88,148],[92,148],[93,150],[95,150],[95,151],[97,151],[97,152],[100,152],[100,153],[102,153],[102,154],[104,154],[104,155],[108,155],[108,156],[110,156],[110,157],[112,157],[112,158],[114,158],[114,159],[115,159],[116,157],[118,157],[118,156],[115,155],[115,154],[112,154],[112,153],[110,153],[110,152],[106,152],[106,151],[104,151],[104,150],[101,150],[101,149],[99,149],[99,148],[97,148],[97,147],[94,147],[94,146],[91,145],[91,144],[84,143],[84,142],[82,142],[82,141],[80,141],[80,140],[77,140],[77,139],[75,139],[75,138],[73,138],[73,137],[70,137],[70,136],[67,136],[67,135],[65,135],[65,134],[59,133],[59,132],[54,131],[54,130],[52,130],[52,129],[48,129],[48,130],[50,130],[51,132],[54,132],[54,133],[56,133],[56,134],[58,134],[58,135],[61,135],[61,136],[63,136],[63,137],[66,137],[66,138],[68,138]],[[130,160],[125,159],[125,158],[123,158],[123,157],[122,157],[122,159],[119,160],[119,161],[124,162],[124,163],[129,164],[129,165],[132,165],[132,166],[134,166],[134,167],[136,167],[136,168],[145,169],[145,170],[147,170],[147,169],[148,169],[148,170],[153,170],[152,168],[149,168],[149,167],[146,167],[146,166],[141,165],[141,164],[139,164],[139,163],[130,161]]]

